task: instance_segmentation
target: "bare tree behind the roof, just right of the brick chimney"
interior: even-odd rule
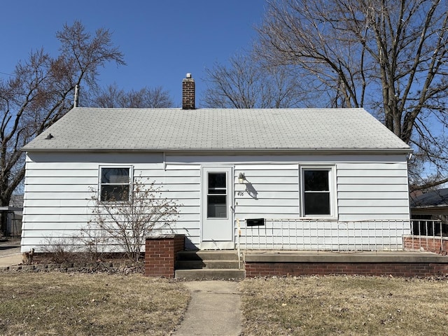
[[[267,109],[297,107],[304,97],[288,66],[265,66],[251,55],[237,55],[230,65],[206,69],[202,99],[210,108]]]

